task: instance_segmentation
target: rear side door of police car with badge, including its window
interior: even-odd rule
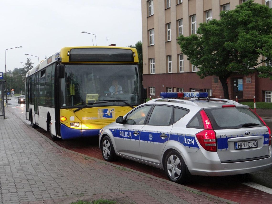
[[[140,151],[142,160],[160,164],[165,145],[172,129],[172,106],[156,105],[141,129]]]

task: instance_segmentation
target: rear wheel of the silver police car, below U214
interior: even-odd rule
[[[180,154],[171,151],[165,157],[165,172],[171,181],[182,183],[186,177],[186,165]]]

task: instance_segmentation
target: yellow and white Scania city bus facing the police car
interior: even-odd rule
[[[135,48],[64,47],[26,75],[26,119],[53,140],[98,135],[146,99]]]

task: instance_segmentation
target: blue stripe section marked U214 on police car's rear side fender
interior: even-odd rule
[[[169,140],[174,140],[182,144],[184,147],[189,149],[199,149],[197,141],[194,135],[171,133]]]

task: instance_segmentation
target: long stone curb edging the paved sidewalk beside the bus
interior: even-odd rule
[[[24,120],[23,118],[19,118],[19,119],[21,121],[23,121],[23,123],[25,123],[28,128],[32,129],[32,126],[30,126],[29,124],[27,124],[26,120]],[[35,129],[33,129],[33,130],[35,130]],[[169,180],[166,180],[166,179],[163,179],[163,178],[158,178],[158,177],[155,177],[153,175],[149,175],[149,174],[146,174],[146,173],[143,173],[143,172],[140,172],[140,171],[136,171],[134,169],[130,169],[130,168],[127,168],[127,167],[124,167],[124,166],[120,166],[120,165],[117,165],[117,164],[114,164],[114,163],[107,162],[105,160],[97,159],[97,158],[94,158],[94,157],[91,157],[91,156],[88,156],[88,155],[85,155],[85,154],[82,154],[82,153],[78,153],[78,152],[74,152],[72,150],[65,149],[63,147],[60,147],[58,144],[54,143],[52,140],[50,140],[48,137],[44,136],[40,132],[36,131],[36,133],[37,133],[37,135],[41,136],[45,141],[47,141],[48,143],[52,144],[57,149],[60,149],[60,150],[66,151],[66,152],[70,152],[70,153],[73,153],[73,154],[77,154],[77,155],[80,155],[80,156],[83,156],[83,157],[87,157],[87,158],[95,160],[97,162],[106,163],[106,164],[114,166],[114,167],[118,167],[118,168],[122,168],[122,169],[127,169],[128,171],[135,172],[137,174],[141,174],[141,175],[144,175],[146,177],[153,178],[153,179],[156,179],[156,180],[163,181],[165,183],[171,184],[173,186],[177,186],[177,187],[183,188],[183,189],[185,189],[185,190],[187,190],[187,191],[189,191],[191,193],[194,193],[194,194],[200,194],[200,195],[203,195],[203,196],[206,196],[206,197],[210,197],[212,199],[217,199],[217,200],[220,200],[222,202],[226,202],[226,203],[230,203],[230,204],[238,204],[237,202],[233,202],[231,200],[227,200],[227,199],[224,199],[224,198],[221,198],[221,197],[218,197],[218,196],[214,196],[214,195],[211,195],[209,193],[205,193],[203,191],[197,190],[195,188],[187,187],[187,186],[184,186],[182,184],[177,184],[175,182],[172,182],[172,181],[169,181]]]

